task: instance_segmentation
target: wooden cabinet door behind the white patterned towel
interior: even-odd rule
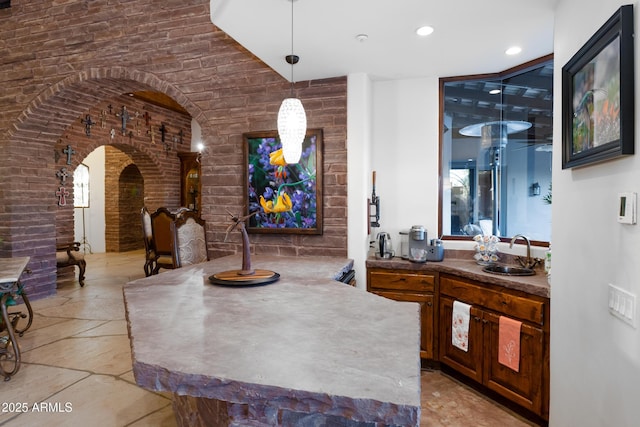
[[[451,343],[453,298],[440,295],[440,362],[482,382],[482,311],[471,306],[469,348],[464,351]]]

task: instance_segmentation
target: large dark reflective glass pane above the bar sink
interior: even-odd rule
[[[440,79],[439,234],[551,240],[553,57]]]

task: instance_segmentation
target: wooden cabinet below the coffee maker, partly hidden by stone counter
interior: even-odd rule
[[[367,290],[396,301],[420,304],[420,357],[434,359],[435,298],[434,273],[405,270],[368,269]]]

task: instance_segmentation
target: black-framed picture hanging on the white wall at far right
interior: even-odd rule
[[[633,5],[562,67],[562,168],[634,154]]]

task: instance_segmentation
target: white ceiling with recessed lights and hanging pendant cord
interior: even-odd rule
[[[553,52],[559,0],[211,0],[211,21],[294,81],[366,73],[374,80],[506,70]],[[419,37],[416,28],[433,34]],[[367,34],[358,41],[358,34]],[[505,55],[513,45],[522,53]]]

